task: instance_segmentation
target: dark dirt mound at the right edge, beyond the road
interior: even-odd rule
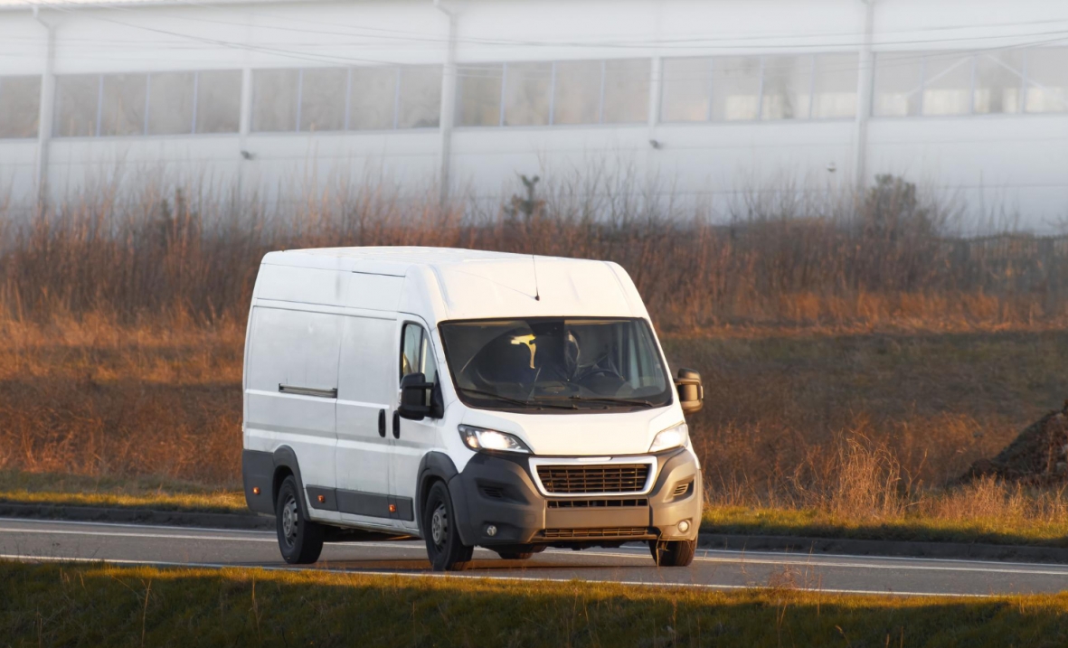
[[[994,476],[1024,484],[1068,481],[1068,400],[1027,426],[993,459],[979,459],[960,480]]]

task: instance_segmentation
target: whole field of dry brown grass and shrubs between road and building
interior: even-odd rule
[[[233,487],[262,254],[451,246],[619,262],[673,364],[705,377],[693,438],[718,506],[1068,520],[1049,493],[940,490],[1068,396],[1068,241],[947,237],[944,210],[894,183],[731,226],[560,188],[525,214],[368,190],[284,219],[184,195],[0,227],[0,469]]]

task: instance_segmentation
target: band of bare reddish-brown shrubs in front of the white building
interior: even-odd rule
[[[729,224],[629,176],[535,183],[487,208],[472,197],[343,186],[273,205],[203,188],[85,192],[0,228],[0,309],[124,322],[245,317],[267,251],[443,246],[606,258],[634,279],[659,327],[1033,326],[1068,316],[1068,243],[948,236],[949,207],[880,178],[846,207],[764,204]],[[778,209],[778,210],[770,210]]]

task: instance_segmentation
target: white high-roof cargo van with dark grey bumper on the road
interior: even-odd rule
[[[647,541],[693,559],[702,478],[672,380],[618,265],[437,248],[264,256],[245,344],[249,508],[288,563],[324,541],[420,537],[436,570],[474,547]]]

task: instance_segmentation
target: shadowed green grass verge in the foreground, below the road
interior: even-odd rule
[[[990,599],[0,563],[12,646],[1063,646],[1068,595]]]

